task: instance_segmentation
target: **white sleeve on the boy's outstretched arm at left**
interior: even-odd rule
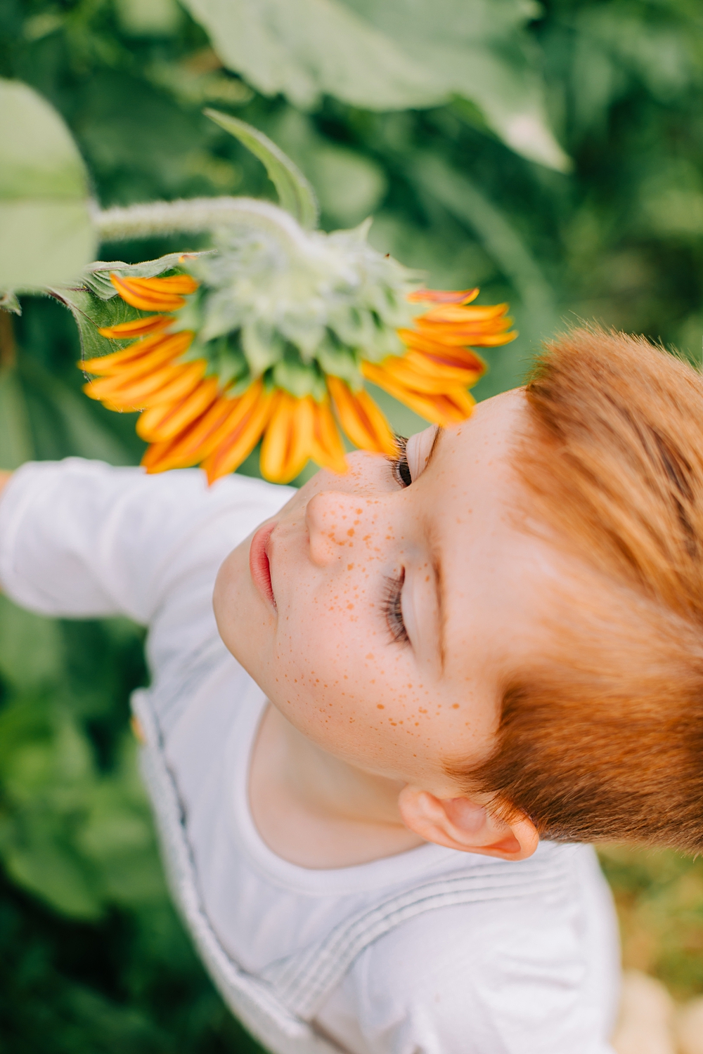
[[[189,577],[214,584],[227,553],[290,493],[245,476],[209,488],[198,469],[30,463],[0,501],[0,583],[42,614],[147,625]]]

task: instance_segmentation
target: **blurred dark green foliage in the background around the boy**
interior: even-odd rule
[[[32,85],[63,116],[103,208],[273,197],[260,163],[202,116],[215,105],[293,158],[317,190],[325,228],[374,213],[376,247],[425,269],[431,285],[477,284],[483,302],[510,300],[521,337],[489,353],[480,397],[519,383],[531,349],[579,318],[644,332],[700,362],[697,0],[446,0],[407,12],[397,0],[336,0],[334,17],[351,12],[363,38],[345,40],[344,83],[305,50],[284,4],[224,5],[252,34],[243,57],[217,4],[187,6],[198,22],[175,0],[0,0],[0,76]],[[306,18],[309,6],[288,3]],[[291,35],[277,38],[273,60],[255,24],[263,9]],[[393,44],[386,67],[378,40]],[[433,76],[447,65],[444,86],[428,81],[422,96],[412,64],[430,53]],[[376,66],[360,83],[369,56]],[[565,152],[553,147],[554,168],[528,159],[549,160],[544,122],[509,132],[500,116],[506,105],[514,116],[514,84],[528,82]],[[419,94],[384,95],[398,84]],[[564,156],[570,172],[558,171]],[[192,237],[155,239],[105,245],[101,255],[132,262],[196,248]],[[39,297],[22,307],[17,319],[0,312],[0,465],[138,461],[132,417],[80,394],[69,313]],[[393,413],[401,429],[413,427]],[[253,1049],[164,893],[126,731],[129,691],[145,677],[129,624],[42,620],[1,602],[0,1041],[13,1052]],[[679,996],[703,991],[703,865],[623,848],[604,860],[626,960]]]

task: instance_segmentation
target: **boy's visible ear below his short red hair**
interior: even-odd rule
[[[450,850],[526,860],[540,842],[536,827],[522,813],[514,820],[500,820],[469,798],[435,798],[408,785],[401,790],[398,806],[406,827]]]

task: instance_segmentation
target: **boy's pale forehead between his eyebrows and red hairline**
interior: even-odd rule
[[[488,399],[443,433],[417,497],[440,570],[449,680],[492,671],[541,649],[562,560],[523,528],[527,495],[513,469],[527,425],[522,389]],[[422,493],[424,492],[424,493]]]

